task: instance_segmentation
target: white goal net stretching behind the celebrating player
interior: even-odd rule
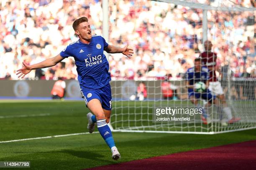
[[[109,56],[113,131],[215,134],[256,128],[255,8],[224,0],[162,1],[109,2],[110,43],[134,49],[130,60]],[[203,59],[206,40],[213,64]],[[207,86],[213,72],[217,80]],[[196,87],[199,81],[204,83]]]

